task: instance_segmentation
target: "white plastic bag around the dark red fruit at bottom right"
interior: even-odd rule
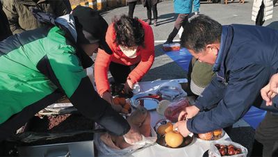
[[[234,147],[240,148],[242,151],[241,154],[235,154],[232,156],[224,156],[224,157],[246,157],[248,154],[248,150],[245,147],[243,147],[241,144],[238,144],[238,143],[232,142],[232,141],[228,141],[228,140],[219,140],[219,141],[211,142],[210,148],[208,150],[209,157],[221,157],[220,152],[218,151],[218,148],[215,147],[215,144],[224,144],[227,146],[229,146],[229,144],[233,144]]]

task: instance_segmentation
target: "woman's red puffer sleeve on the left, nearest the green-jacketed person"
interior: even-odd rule
[[[108,68],[111,63],[111,55],[108,55],[104,50],[99,49],[95,60],[95,83],[99,95],[110,91],[108,82]]]

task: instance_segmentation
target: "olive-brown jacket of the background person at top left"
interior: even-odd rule
[[[33,0],[3,0],[3,11],[8,17],[10,30],[13,34],[44,26],[35,19],[31,13],[32,8],[51,13],[56,17],[67,14],[63,0],[38,0],[38,2]]]

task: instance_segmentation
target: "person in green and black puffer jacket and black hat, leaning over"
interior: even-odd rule
[[[140,133],[99,97],[84,71],[98,47],[112,53],[103,17],[78,6],[72,14],[49,21],[56,26],[24,31],[0,42],[0,142],[64,94],[81,114],[108,132],[124,135],[129,143],[141,140]]]

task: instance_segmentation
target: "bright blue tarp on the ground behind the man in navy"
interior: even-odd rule
[[[192,55],[189,53],[187,49],[181,49],[180,51],[167,51],[165,52],[167,56],[169,56],[175,63],[177,63],[184,71],[188,72],[188,66]],[[252,106],[250,110],[245,114],[243,119],[245,122],[250,124],[252,128],[256,129],[259,123],[265,117],[265,110],[261,110]]]

